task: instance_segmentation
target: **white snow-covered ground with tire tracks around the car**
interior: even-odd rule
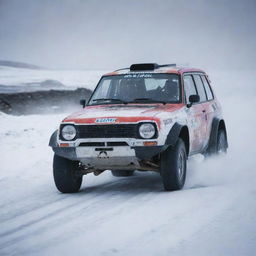
[[[254,74],[209,71],[229,153],[190,159],[178,192],[164,192],[155,173],[105,172],[60,194],[47,144],[67,113],[0,114],[0,255],[255,255]]]

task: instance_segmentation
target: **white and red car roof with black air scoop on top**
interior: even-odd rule
[[[158,65],[156,63],[139,63],[132,64],[129,68],[122,68],[113,72],[107,73],[104,76],[134,74],[134,73],[164,73],[164,74],[183,74],[190,72],[205,73],[198,68],[188,68],[177,66],[176,64],[163,64]]]

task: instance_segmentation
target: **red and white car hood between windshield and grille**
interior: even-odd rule
[[[72,123],[123,123],[143,120],[160,121],[161,115],[174,112],[184,104],[129,104],[87,106],[63,120]]]

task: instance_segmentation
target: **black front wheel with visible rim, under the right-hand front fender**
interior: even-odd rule
[[[174,191],[183,188],[186,180],[187,153],[182,139],[178,139],[173,148],[161,155],[160,173],[165,190]]]

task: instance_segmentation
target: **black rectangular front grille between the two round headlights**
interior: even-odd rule
[[[77,138],[138,138],[137,124],[76,125]]]

